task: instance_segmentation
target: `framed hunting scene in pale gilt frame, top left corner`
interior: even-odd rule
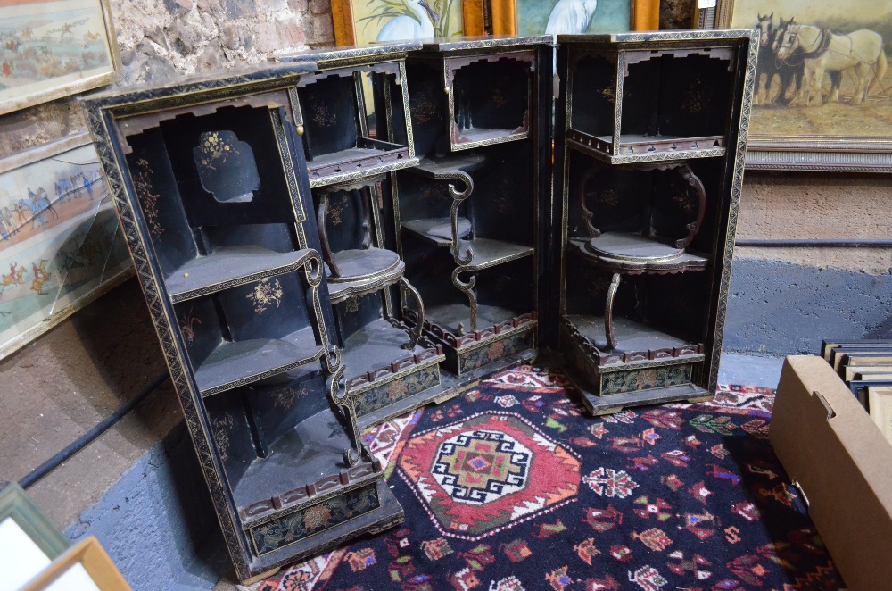
[[[0,0],[0,114],[117,76],[108,0]]]

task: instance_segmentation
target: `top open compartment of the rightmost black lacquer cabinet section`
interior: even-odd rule
[[[566,146],[614,164],[721,157],[728,148],[733,43],[607,46],[562,37],[569,58]]]

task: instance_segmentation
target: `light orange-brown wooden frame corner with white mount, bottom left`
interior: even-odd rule
[[[130,591],[127,579],[95,536],[72,545],[22,591]]]

